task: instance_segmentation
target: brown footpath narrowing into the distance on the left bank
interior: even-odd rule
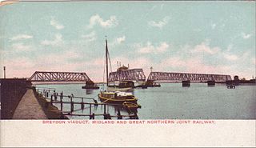
[[[47,119],[32,89],[26,90],[14,111],[13,119]]]

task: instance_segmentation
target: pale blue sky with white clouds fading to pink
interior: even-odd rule
[[[15,2],[0,6],[0,78],[153,71],[255,77],[255,2]]]

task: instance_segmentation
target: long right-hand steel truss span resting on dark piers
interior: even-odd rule
[[[151,72],[148,79],[151,81],[168,81],[181,82],[190,80],[190,82],[226,82],[231,80],[230,75],[222,74],[186,74],[186,73],[166,73],[166,72]]]

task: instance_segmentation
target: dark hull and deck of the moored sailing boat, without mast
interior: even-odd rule
[[[106,91],[98,94],[102,103],[123,104],[124,102],[137,104],[138,99],[133,94],[122,91]]]

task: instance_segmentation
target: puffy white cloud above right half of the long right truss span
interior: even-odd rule
[[[217,54],[220,49],[218,47],[210,48],[208,43],[202,42],[201,44],[194,47],[191,50],[192,53],[206,53],[206,54]]]

